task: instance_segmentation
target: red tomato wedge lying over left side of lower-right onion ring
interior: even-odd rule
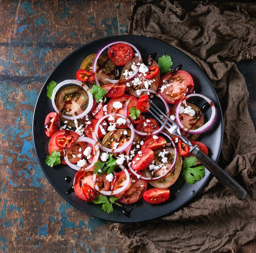
[[[131,167],[135,171],[146,169],[155,158],[153,150],[150,148],[145,148],[144,150],[139,151],[133,158]]]

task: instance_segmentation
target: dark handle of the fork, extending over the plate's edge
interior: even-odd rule
[[[207,156],[197,146],[191,153],[224,185],[236,198],[242,200],[246,197],[247,191],[239,185],[234,178],[225,172],[217,163]]]

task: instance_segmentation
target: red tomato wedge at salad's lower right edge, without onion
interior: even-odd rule
[[[150,188],[144,191],[143,198],[148,203],[159,204],[170,198],[170,190],[168,188]]]

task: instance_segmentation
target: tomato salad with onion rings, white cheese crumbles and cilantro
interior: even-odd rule
[[[169,199],[169,187],[186,169],[182,164],[191,154],[148,113],[149,100],[157,102],[191,141],[215,117],[213,103],[194,92],[191,75],[171,70],[172,64],[170,56],[142,57],[130,43],[112,42],[84,59],[76,79],[49,83],[47,96],[54,111],[45,119],[50,138],[46,163],[77,171],[73,187],[78,198],[103,204],[108,213],[112,204]],[[211,107],[206,123],[200,108],[189,102],[195,97]],[[203,143],[196,144],[208,153]]]

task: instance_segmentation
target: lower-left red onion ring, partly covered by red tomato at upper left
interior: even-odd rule
[[[91,138],[88,138],[88,137],[85,137],[85,136],[81,136],[79,137],[76,142],[85,142],[85,143],[90,143],[93,145],[94,149],[95,149],[95,155],[94,155],[94,159],[91,161],[90,165],[86,166],[86,167],[80,167],[78,166],[77,164],[72,164],[70,163],[70,161],[68,160],[67,158],[67,150],[65,150],[64,152],[64,159],[65,159],[65,162],[67,163],[68,166],[70,166],[72,169],[75,169],[75,170],[89,170],[91,169],[93,166],[94,166],[94,163],[96,161],[98,161],[98,158],[99,158],[99,154],[100,154],[100,150],[99,150],[99,146],[97,144],[96,141],[94,141],[93,139]]]

